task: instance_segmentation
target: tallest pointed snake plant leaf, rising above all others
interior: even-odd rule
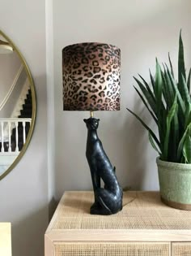
[[[180,31],[180,37],[179,37],[179,51],[178,51],[178,89],[180,91],[180,95],[183,97],[184,92],[182,91],[182,76],[184,76],[186,80],[185,75],[185,58],[184,58],[184,46],[183,41],[181,37],[181,31]]]

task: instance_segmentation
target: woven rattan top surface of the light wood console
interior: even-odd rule
[[[92,192],[65,192],[49,224],[49,231],[65,230],[189,230],[191,211],[176,210],[160,201],[159,192],[125,192],[116,215],[90,215]]]

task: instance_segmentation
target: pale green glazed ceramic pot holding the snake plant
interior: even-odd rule
[[[176,209],[191,210],[191,164],[156,159],[162,201]]]

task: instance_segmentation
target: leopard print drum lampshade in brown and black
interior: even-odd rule
[[[121,51],[102,43],[62,50],[64,111],[119,111]]]

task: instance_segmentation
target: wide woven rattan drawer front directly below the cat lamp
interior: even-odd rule
[[[170,256],[170,243],[62,243],[55,256]]]

